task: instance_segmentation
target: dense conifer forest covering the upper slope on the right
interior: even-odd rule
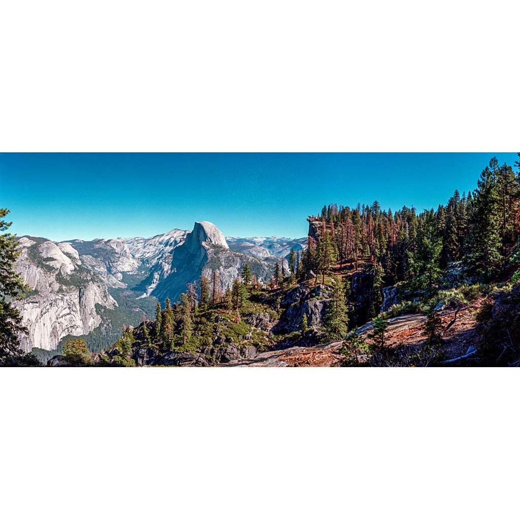
[[[433,289],[448,267],[462,269],[469,281],[489,283],[520,277],[520,154],[514,167],[492,158],[477,188],[458,190],[436,210],[413,206],[392,212],[371,205],[330,204],[309,219],[321,223],[303,254],[305,269],[327,272],[337,262],[368,261],[374,280],[374,312],[382,287],[413,280],[415,289]]]

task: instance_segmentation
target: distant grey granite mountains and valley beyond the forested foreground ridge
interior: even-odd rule
[[[21,347],[54,351],[69,336],[82,336],[96,351],[110,346],[123,325],[152,318],[157,300],[175,302],[186,284],[217,272],[225,291],[245,263],[268,282],[276,262],[306,238],[224,237],[210,222],[192,231],[173,229],[151,238],[69,240],[20,238],[18,268],[33,290],[18,302],[29,336]]]

